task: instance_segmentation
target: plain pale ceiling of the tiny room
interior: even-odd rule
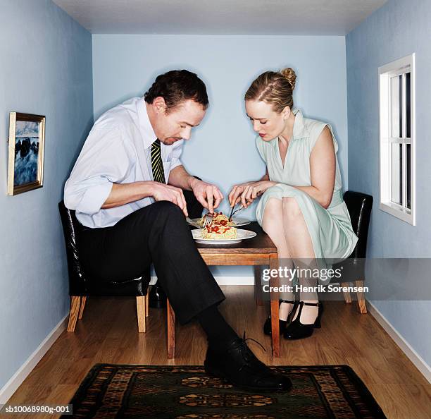
[[[346,35],[387,0],[54,0],[92,33]]]

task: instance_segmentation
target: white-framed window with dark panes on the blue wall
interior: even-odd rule
[[[379,67],[380,209],[415,219],[415,54]]]

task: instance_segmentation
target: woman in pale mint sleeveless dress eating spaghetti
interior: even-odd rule
[[[292,68],[266,71],[247,90],[246,114],[258,133],[256,145],[266,174],[260,181],[234,186],[229,201],[248,207],[262,195],[256,218],[277,246],[283,265],[330,267],[330,260],[349,257],[358,238],[343,200],[334,133],[328,123],[304,118],[294,109],[295,80]],[[317,284],[308,273],[289,278],[289,285],[296,279],[300,286]],[[280,296],[280,333],[286,339],[311,336],[313,328],[320,327],[322,313],[317,293],[300,292],[299,303],[290,289]],[[270,319],[264,332],[270,334]]]

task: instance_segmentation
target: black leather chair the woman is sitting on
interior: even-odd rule
[[[350,282],[355,282],[357,287],[362,287],[365,281],[365,260],[367,253],[368,226],[370,225],[371,208],[373,207],[373,197],[365,193],[347,190],[344,193],[344,202],[349,210],[351,225],[358,236],[358,243],[351,255],[342,262],[332,266],[332,269],[342,268],[344,279],[342,286],[349,286]],[[337,281],[332,280],[332,282]],[[366,300],[363,293],[357,293],[358,308],[362,314],[367,312]],[[344,293],[346,303],[351,303],[349,292]]]

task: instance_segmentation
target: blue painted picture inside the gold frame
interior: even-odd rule
[[[37,181],[39,122],[16,121],[13,186]]]

